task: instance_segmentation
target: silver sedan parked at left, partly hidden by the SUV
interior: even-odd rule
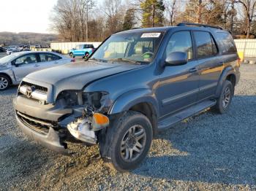
[[[15,52],[0,59],[0,91],[19,82],[33,71],[74,62],[56,52]]]

